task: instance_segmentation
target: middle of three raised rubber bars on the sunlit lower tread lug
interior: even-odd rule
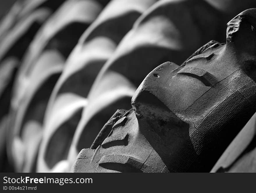
[[[102,147],[103,148],[109,148],[112,146],[118,146],[118,145],[128,145],[128,138],[129,134],[128,133],[118,133],[116,135],[111,135],[110,137],[107,137],[103,143]]]

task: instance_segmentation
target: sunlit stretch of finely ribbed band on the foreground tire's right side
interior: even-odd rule
[[[248,92],[251,89],[251,92]],[[252,105],[256,92],[255,83],[250,82],[230,94],[220,105],[197,126],[191,135],[191,141],[197,154],[203,151],[203,144],[208,144],[223,131],[228,121],[239,117],[239,113]],[[215,129],[212,127],[214,126]],[[205,137],[207,135],[207,137]],[[204,137],[203,137],[204,136]],[[203,141],[207,139],[207,141]]]

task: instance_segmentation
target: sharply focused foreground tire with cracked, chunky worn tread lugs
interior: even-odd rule
[[[96,150],[79,153],[73,171],[211,171],[256,111],[255,19],[255,8],[241,12],[227,23],[226,44],[211,41],[181,66],[165,62],[150,72],[133,109]],[[254,171],[255,140],[252,147],[234,171]]]

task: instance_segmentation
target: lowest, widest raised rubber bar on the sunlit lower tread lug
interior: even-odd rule
[[[142,172],[143,163],[130,156],[106,155],[99,160],[99,166],[120,172]]]

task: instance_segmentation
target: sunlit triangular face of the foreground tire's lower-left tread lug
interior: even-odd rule
[[[168,172],[161,158],[142,133],[128,127],[137,121],[131,109],[114,125],[97,149],[83,149],[74,164],[74,172]],[[139,143],[135,140],[139,137]],[[141,148],[140,148],[141,147]],[[141,150],[141,151],[140,151]],[[157,165],[152,165],[152,160]]]

